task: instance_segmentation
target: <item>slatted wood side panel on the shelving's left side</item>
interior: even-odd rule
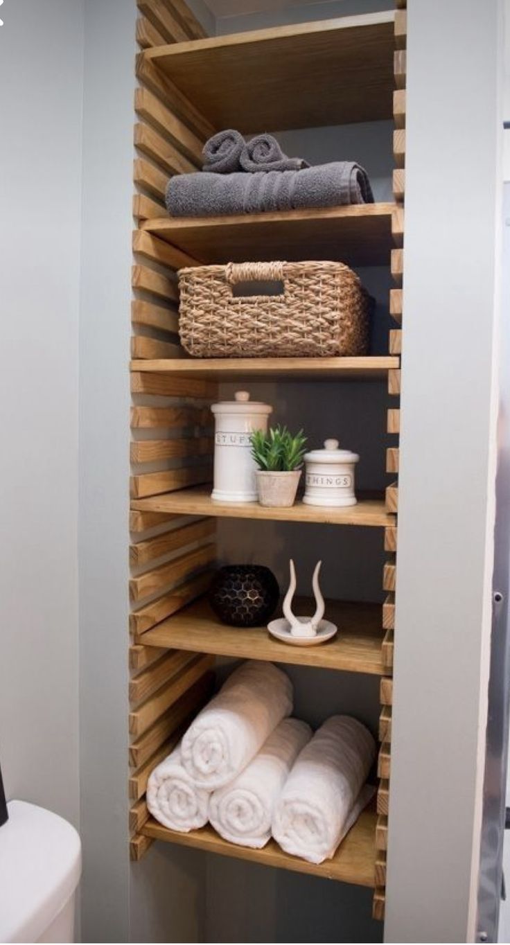
[[[142,50],[205,35],[183,0],[139,0],[138,7],[137,42]],[[136,73],[133,216],[140,221],[166,215],[169,176],[201,166],[202,146],[213,129],[143,54]],[[177,270],[195,265],[186,253],[135,229],[133,358],[184,356],[178,340]],[[131,495],[139,498],[211,481],[211,404],[217,386],[208,380],[134,371],[130,389]],[[213,681],[212,656],[145,646],[144,632],[207,591],[216,546],[212,519],[131,512],[129,528],[129,832],[131,858],[139,860],[151,843],[140,834],[148,816],[145,789],[150,772],[211,696]]]

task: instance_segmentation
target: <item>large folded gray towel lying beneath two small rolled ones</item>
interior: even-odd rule
[[[166,188],[172,216],[261,214],[373,202],[366,171],[351,161],[301,171],[179,174]]]

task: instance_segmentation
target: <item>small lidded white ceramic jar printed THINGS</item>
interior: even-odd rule
[[[337,439],[327,439],[323,450],[313,450],[306,463],[305,494],[307,506],[355,506],[354,469],[357,453],[340,450]]]

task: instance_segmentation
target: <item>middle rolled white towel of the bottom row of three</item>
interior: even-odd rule
[[[281,788],[301,748],[312,738],[306,722],[284,718],[253,761],[231,784],[211,795],[209,819],[230,843],[260,850],[271,836],[271,821]]]

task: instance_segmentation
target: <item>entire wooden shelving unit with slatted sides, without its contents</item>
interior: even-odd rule
[[[296,379],[315,384],[320,380],[386,380],[389,394],[398,397],[401,333],[399,328],[392,330],[390,353],[383,356],[191,359],[183,356],[176,344],[176,273],[182,266],[248,259],[330,259],[350,266],[387,266],[391,253],[395,288],[389,308],[400,324],[406,75],[405,10],[401,8],[405,0],[399,0],[397,13],[213,39],[204,36],[183,0],[138,0],[138,5],[137,40],[144,51],[137,62],[141,88],[135,96],[138,154],[133,204],[139,229],[133,237],[132,275],[131,391],[138,400],[131,418],[136,430],[131,450],[135,475],[130,516],[134,568],[129,651],[131,856],[140,859],[157,839],[370,886],[374,888],[373,914],[382,919],[391,764],[397,485],[387,488],[385,501],[361,497],[357,506],[339,509],[299,502],[289,509],[213,503],[208,485],[211,463],[207,457],[212,455],[208,423],[209,405],[222,381],[283,383]],[[392,116],[396,125],[395,203],[208,218],[173,219],[166,214],[168,175],[198,169],[203,143],[217,129],[253,133]],[[172,404],[161,402],[161,398],[172,398]],[[399,434],[398,406],[388,411],[387,433]],[[176,459],[182,469],[171,468]],[[161,470],[163,462],[166,465]],[[398,472],[398,440],[388,448],[386,469]],[[175,521],[183,516],[193,518]],[[382,609],[380,605],[331,605],[329,613],[340,627],[338,637],[311,648],[280,644],[262,627],[244,630],[219,624],[203,594],[215,564],[214,519],[223,517],[383,528],[387,560],[382,585],[387,596]],[[175,557],[170,559],[169,555]],[[211,827],[175,833],[148,817],[144,792],[150,770],[176,744],[181,727],[211,695],[216,656],[315,666],[380,679],[382,747],[378,759],[381,780],[374,804],[377,810],[365,811],[331,861],[315,867],[288,856],[273,842],[262,851],[252,851],[229,844]]]

